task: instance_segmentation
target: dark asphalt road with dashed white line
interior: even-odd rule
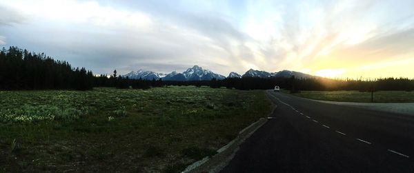
[[[414,172],[414,116],[266,94],[275,112],[221,172]]]

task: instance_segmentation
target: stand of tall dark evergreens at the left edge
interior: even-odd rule
[[[72,68],[44,53],[16,47],[0,51],[0,90],[90,90],[94,77],[85,68]]]

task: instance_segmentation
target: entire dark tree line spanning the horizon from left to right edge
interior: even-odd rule
[[[414,90],[414,79],[384,78],[326,79],[322,77],[297,79],[290,78],[227,78],[210,81],[162,81],[128,79],[115,70],[107,75],[94,76],[85,68],[72,68],[66,61],[56,61],[44,53],[34,53],[16,47],[0,51],[0,90],[91,90],[93,87],[148,89],[168,85],[201,85],[210,88],[235,88],[237,90],[267,90],[275,85],[298,92],[299,90]]]

